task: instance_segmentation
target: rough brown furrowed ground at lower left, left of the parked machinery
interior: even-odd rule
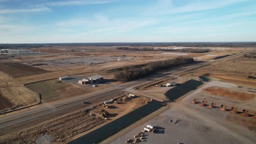
[[[4,137],[0,140],[0,143],[36,143],[36,140],[44,134],[51,135],[54,142],[60,142],[82,133],[83,131],[89,130],[103,122],[103,118],[96,118],[83,112],[78,112],[73,115],[39,125],[38,127]]]

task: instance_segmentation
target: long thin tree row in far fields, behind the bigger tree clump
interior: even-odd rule
[[[154,49],[149,47],[142,47],[142,48],[131,48],[131,47],[117,47],[118,50],[130,50],[130,51],[177,51],[177,52],[190,52],[190,53],[203,53],[203,52],[210,52],[210,49]]]

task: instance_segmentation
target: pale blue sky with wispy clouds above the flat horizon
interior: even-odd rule
[[[0,0],[2,43],[256,41],[254,0]]]

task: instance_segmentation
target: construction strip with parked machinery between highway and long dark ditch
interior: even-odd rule
[[[116,95],[116,99],[104,101],[99,105],[84,103],[85,106],[82,109],[69,113],[69,115],[57,116],[53,113],[53,119],[38,124],[36,127],[8,134],[9,136],[1,138],[1,143],[67,142],[74,136],[90,133],[91,129],[110,123],[152,101],[133,94],[122,94],[122,97]]]

